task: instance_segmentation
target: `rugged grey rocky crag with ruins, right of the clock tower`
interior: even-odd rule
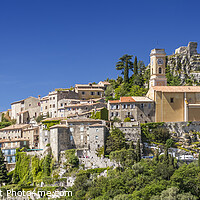
[[[200,85],[200,54],[197,42],[179,47],[174,55],[167,56],[167,68],[181,79],[181,85]]]

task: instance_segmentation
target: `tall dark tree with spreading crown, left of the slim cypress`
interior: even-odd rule
[[[131,61],[132,55],[123,55],[116,64],[117,70],[122,70],[124,74],[124,82],[128,83],[129,80],[129,69],[133,69],[133,62]]]

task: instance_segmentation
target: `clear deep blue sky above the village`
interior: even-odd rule
[[[116,78],[124,54],[149,63],[200,45],[200,3],[188,0],[0,1],[0,111],[55,88]],[[200,52],[198,46],[198,52]]]

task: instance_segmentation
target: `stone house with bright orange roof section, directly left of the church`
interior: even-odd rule
[[[120,97],[120,100],[108,101],[108,111],[110,120],[117,117],[124,121],[129,117],[131,121],[147,123],[155,119],[154,101],[147,97]]]

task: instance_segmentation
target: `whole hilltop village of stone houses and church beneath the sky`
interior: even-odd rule
[[[176,144],[176,148],[170,148],[174,157],[195,159],[200,143],[200,55],[196,48],[197,43],[190,42],[170,56],[166,56],[164,49],[151,50],[145,95],[115,99],[112,94],[112,98],[106,99],[112,84],[106,80],[12,102],[11,109],[1,113],[2,122],[5,119],[12,122],[0,129],[0,147],[7,169],[15,169],[16,152],[22,149],[40,159],[51,152],[55,165],[59,165],[60,177],[65,176],[62,165],[67,162],[67,150],[74,151],[84,169],[120,166],[122,163],[105,156],[112,130],[120,130],[129,146],[138,145],[141,156],[153,157],[156,149],[160,154],[164,152],[162,141],[156,140],[158,134],[152,131],[155,127],[171,135]],[[182,85],[169,86],[166,77],[169,68]],[[192,70],[195,81],[185,84],[187,74],[192,77]],[[147,134],[147,129],[152,134]],[[153,134],[154,141],[150,138]],[[74,181],[69,176],[67,186]]]

